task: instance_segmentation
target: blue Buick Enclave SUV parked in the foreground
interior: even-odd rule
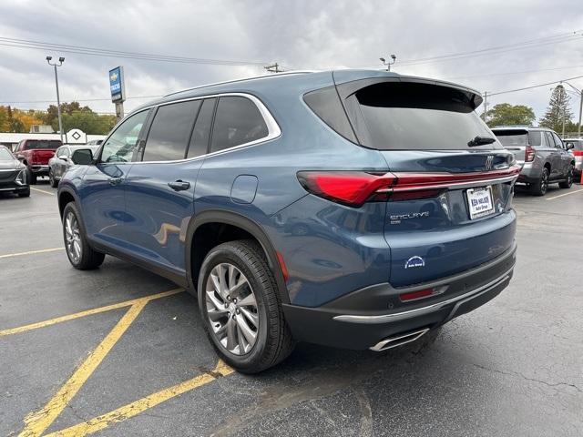
[[[58,187],[66,254],[196,290],[244,372],[297,340],[385,349],[506,288],[520,168],[450,83],[373,70],[201,86],[139,107]],[[427,335],[427,332],[430,332]]]

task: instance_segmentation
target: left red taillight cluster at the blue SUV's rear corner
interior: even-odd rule
[[[396,178],[391,173],[373,175],[358,171],[301,171],[298,180],[303,188],[316,196],[358,207],[379,189],[391,188]]]

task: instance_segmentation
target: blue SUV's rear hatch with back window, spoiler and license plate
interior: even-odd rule
[[[403,76],[337,88],[358,142],[389,168],[375,196],[387,202],[393,286],[462,272],[513,246],[520,167],[476,115],[479,95]]]

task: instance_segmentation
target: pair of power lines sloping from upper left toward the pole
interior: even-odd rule
[[[0,36],[0,46],[29,48],[34,50],[58,50],[59,52],[76,53],[89,56],[123,57],[129,59],[149,60],[159,62],[173,62],[182,64],[207,64],[217,66],[263,66],[266,62],[245,60],[221,60],[188,56],[167,56],[143,52],[129,52],[108,48],[87,46],[70,46],[64,44],[46,43],[30,39],[17,39]]]

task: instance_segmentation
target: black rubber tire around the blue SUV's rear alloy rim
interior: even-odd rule
[[[229,351],[220,343],[210,326],[206,284],[212,269],[223,263],[236,267],[245,275],[257,303],[257,337],[251,350],[244,354]],[[210,250],[200,268],[198,300],[200,315],[210,342],[220,358],[237,371],[257,373],[278,364],[292,353],[295,343],[283,317],[277,283],[261,246],[255,241],[230,241]],[[234,320],[234,316],[231,316]],[[229,317],[227,315],[227,319]]]

